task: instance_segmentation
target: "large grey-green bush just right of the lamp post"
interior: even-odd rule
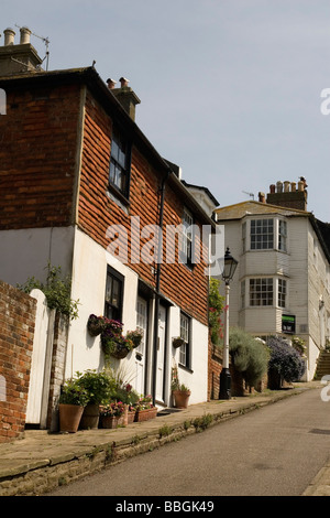
[[[267,371],[270,352],[262,341],[240,327],[229,332],[229,350],[232,364],[246,384],[255,386]]]

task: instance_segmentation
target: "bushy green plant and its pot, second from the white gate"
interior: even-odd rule
[[[105,371],[97,373],[95,369],[86,370],[84,375],[78,373],[78,384],[87,390],[89,402],[85,407],[80,428],[84,430],[96,429],[99,424],[100,404],[109,401],[113,380]]]

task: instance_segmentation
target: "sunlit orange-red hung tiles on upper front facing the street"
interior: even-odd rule
[[[155,263],[143,260],[145,246],[151,235],[143,237],[132,233],[132,217],[139,217],[142,231],[147,225],[158,225],[161,206],[161,187],[164,177],[162,171],[147,154],[134,142],[131,157],[131,179],[129,203],[117,203],[109,193],[109,163],[111,152],[112,119],[87,91],[85,104],[85,123],[81,155],[81,171],[78,196],[78,226],[99,245],[107,248],[111,240],[107,230],[109,226],[122,225],[128,236],[128,266],[145,282],[155,287]],[[176,193],[174,184],[165,185],[164,228],[180,225],[184,213],[184,201]],[[195,222],[200,227],[199,222]],[[139,247],[139,248],[136,248]],[[138,262],[134,253],[139,253]],[[163,244],[165,253],[165,245]],[[153,251],[151,251],[153,255]],[[190,316],[207,325],[207,287],[205,262],[196,263],[191,269],[177,261],[178,242],[175,244],[175,263],[167,263],[163,253],[161,292],[178,304]]]

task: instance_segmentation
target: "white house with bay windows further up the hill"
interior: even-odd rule
[[[298,187],[298,188],[297,188]],[[330,338],[330,226],[307,212],[306,183],[278,182],[265,197],[216,209],[239,261],[230,325],[261,337],[301,337],[306,379]]]

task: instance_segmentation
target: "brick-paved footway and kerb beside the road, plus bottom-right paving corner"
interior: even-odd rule
[[[45,495],[167,442],[321,387],[318,381],[301,382],[285,390],[211,400],[183,410],[164,409],[155,419],[114,430],[25,430],[22,439],[0,444],[0,496]],[[301,496],[330,496],[330,458]]]

